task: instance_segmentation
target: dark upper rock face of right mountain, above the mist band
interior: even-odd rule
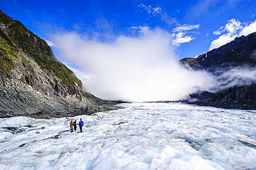
[[[201,54],[196,59],[185,58],[182,63],[197,70],[214,72],[219,67],[256,65],[256,32],[241,36],[219,48]]]

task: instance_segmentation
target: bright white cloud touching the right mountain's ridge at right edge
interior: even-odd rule
[[[228,23],[226,23],[226,25],[219,28],[219,30],[213,32],[213,34],[220,36],[218,39],[212,41],[209,50],[221,47],[221,45],[229,43],[236,37],[242,35],[246,36],[253,32],[256,32],[256,20],[249,23],[241,23],[236,19],[230,19]]]

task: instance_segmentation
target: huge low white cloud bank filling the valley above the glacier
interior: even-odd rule
[[[103,99],[180,100],[210,89],[212,76],[179,65],[170,39],[167,32],[156,29],[111,42],[62,32],[52,41],[62,60],[81,68],[75,73],[89,92]]]

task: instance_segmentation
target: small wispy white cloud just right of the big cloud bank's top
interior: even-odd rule
[[[179,46],[181,45],[181,43],[188,43],[190,41],[192,41],[193,39],[195,39],[193,36],[191,35],[186,35],[188,34],[189,30],[194,30],[194,29],[199,29],[200,25],[180,25],[176,28],[174,28],[174,32],[172,33],[172,45],[176,45]]]

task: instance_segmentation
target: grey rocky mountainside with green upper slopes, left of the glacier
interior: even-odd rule
[[[52,118],[116,109],[84,90],[46,41],[0,10],[0,118]]]

